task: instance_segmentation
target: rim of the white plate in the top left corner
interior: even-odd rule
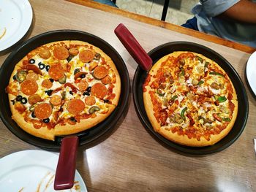
[[[26,25],[20,25],[19,28],[17,29],[17,31],[19,31],[18,35],[15,35],[14,37],[10,37],[8,39],[12,39],[11,41],[8,41],[7,43],[5,42],[6,40],[4,40],[1,45],[0,45],[0,52],[7,50],[8,48],[12,47],[12,45],[15,45],[15,43],[17,43],[18,41],[20,41],[20,39],[22,39],[25,34],[27,33],[27,31],[29,31],[29,28],[31,26],[32,20],[33,20],[33,9],[31,7],[31,4],[29,2],[29,0],[10,0],[13,2],[13,4],[16,4],[18,6],[18,8],[25,6],[23,9],[20,9],[20,14],[22,15],[21,17],[23,17],[23,15],[27,15],[28,17],[26,18],[25,24]],[[20,21],[20,24],[23,23],[22,20]],[[24,24],[24,23],[23,23]],[[1,41],[1,39],[0,39]]]

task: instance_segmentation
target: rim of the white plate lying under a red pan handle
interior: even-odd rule
[[[33,166],[35,166],[35,165],[42,166],[42,163],[38,164],[38,161],[36,161],[34,158],[29,158],[30,153],[37,153],[37,157],[39,157],[39,155],[41,155],[41,156],[48,155],[48,157],[53,158],[53,161],[56,161],[58,163],[59,155],[56,153],[49,152],[46,150],[20,150],[20,151],[16,151],[14,153],[10,153],[8,155],[1,157],[0,158],[0,166],[2,164],[6,163],[4,161],[12,159],[12,156],[17,158],[17,156],[20,156],[20,155],[22,155],[22,157],[23,157],[23,160],[24,160],[23,162],[27,162],[26,159],[29,159],[29,164],[32,164]],[[25,157],[25,159],[24,159],[24,157]],[[8,161],[8,164],[10,164],[10,161]],[[23,163],[23,164],[21,164],[21,166],[28,166],[29,164]],[[50,164],[50,165],[44,164],[44,166],[47,166],[48,169],[53,169],[54,171],[56,171],[56,167],[54,167],[53,164]],[[56,164],[56,166],[57,166],[57,164]],[[12,166],[11,168],[15,169],[15,168],[19,168],[19,167],[20,167],[19,164],[14,164],[14,166]],[[11,170],[7,170],[7,171],[11,171]],[[0,172],[0,177],[2,177],[3,175],[4,175],[4,172]],[[78,180],[80,180],[80,185],[82,185],[82,187],[85,188],[85,191],[83,191],[83,192],[87,192],[86,183],[84,182],[83,177],[81,177],[81,175],[77,169],[75,169],[75,176],[78,178]]]

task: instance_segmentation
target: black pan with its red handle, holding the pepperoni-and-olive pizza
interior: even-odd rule
[[[83,42],[89,42],[91,45],[99,47],[103,52],[110,56],[113,63],[116,64],[116,68],[121,77],[121,95],[116,109],[113,110],[110,116],[102,121],[102,123],[99,123],[97,126],[86,131],[81,131],[78,134],[56,137],[55,141],[50,141],[47,139],[40,139],[26,133],[26,131],[23,131],[23,129],[21,129],[12,120],[12,114],[10,112],[8,96],[7,93],[5,93],[5,88],[9,83],[10,75],[12,74],[15,65],[27,53],[41,45],[45,45],[48,42],[61,40],[80,40]],[[75,178],[75,159],[78,145],[89,144],[113,128],[119,118],[121,118],[121,115],[124,115],[129,99],[129,74],[127,66],[124,64],[121,56],[111,45],[108,44],[108,42],[105,42],[105,40],[100,39],[93,34],[74,30],[49,31],[44,34],[39,34],[36,37],[32,37],[17,47],[1,66],[0,85],[0,117],[7,128],[12,131],[12,134],[15,134],[15,136],[19,137],[24,142],[28,142],[31,145],[41,147],[45,150],[60,150],[59,161],[56,168],[56,177],[54,180],[55,190],[72,188]]]

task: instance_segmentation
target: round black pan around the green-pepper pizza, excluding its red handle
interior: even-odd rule
[[[145,128],[160,142],[164,142],[166,145],[178,151],[181,151],[182,153],[190,153],[193,155],[206,155],[224,150],[225,148],[233,144],[236,139],[238,139],[238,137],[244,131],[248,118],[248,99],[241,78],[239,77],[233,66],[225,58],[223,58],[222,55],[219,55],[214,50],[211,50],[208,47],[198,45],[192,42],[170,42],[154,48],[148,53],[148,55],[151,57],[153,64],[155,64],[160,58],[169,53],[173,53],[174,51],[192,51],[195,53],[203,54],[207,58],[216,61],[217,64],[219,64],[219,66],[221,66],[222,69],[227,72],[233,82],[234,87],[236,88],[236,93],[238,96],[238,116],[236,118],[236,122],[230,133],[227,134],[225,138],[217,142],[215,145],[211,145],[208,147],[187,147],[184,145],[178,145],[174,142],[170,142],[169,140],[165,139],[165,137],[157,134],[157,132],[154,131],[154,128],[151,126],[151,123],[148,120],[143,104],[143,83],[146,79],[147,72],[141,69],[140,66],[138,66],[133,80],[132,93],[135,102],[135,109],[138,113],[141,123],[143,123],[143,126],[145,126]]]

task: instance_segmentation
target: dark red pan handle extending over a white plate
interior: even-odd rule
[[[54,189],[72,188],[75,179],[75,159],[78,150],[78,137],[64,137],[56,169]]]

